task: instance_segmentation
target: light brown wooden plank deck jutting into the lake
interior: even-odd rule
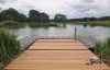
[[[92,56],[79,40],[38,39],[6,70],[109,70],[105,63],[86,65]]]

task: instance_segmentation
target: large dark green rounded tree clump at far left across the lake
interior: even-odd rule
[[[23,22],[26,16],[24,14],[19,13],[16,10],[9,8],[8,10],[3,10],[0,12],[0,21],[16,21]]]

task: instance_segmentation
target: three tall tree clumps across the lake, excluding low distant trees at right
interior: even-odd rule
[[[30,10],[28,16],[23,13],[18,12],[13,8],[9,8],[8,10],[2,10],[0,12],[0,22],[2,21],[15,21],[15,22],[65,22],[66,15],[56,14],[54,20],[51,20],[46,13],[41,13],[36,10]]]

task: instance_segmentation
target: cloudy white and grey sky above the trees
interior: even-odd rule
[[[30,10],[37,10],[51,19],[56,13],[68,19],[110,15],[110,0],[0,0],[0,8],[14,8],[26,15]]]

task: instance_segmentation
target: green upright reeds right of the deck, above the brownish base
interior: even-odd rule
[[[95,46],[95,54],[103,58],[110,58],[110,38],[98,42]]]

